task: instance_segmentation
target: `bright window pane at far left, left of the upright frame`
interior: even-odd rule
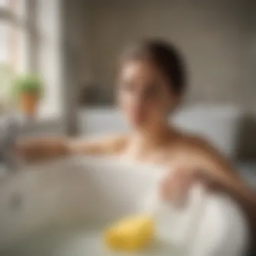
[[[11,101],[11,79],[29,71],[26,53],[30,29],[26,24],[26,0],[0,0],[0,100]]]

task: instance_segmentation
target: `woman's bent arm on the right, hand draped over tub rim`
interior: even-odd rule
[[[162,197],[183,205],[187,201],[189,189],[198,181],[207,189],[224,191],[241,205],[249,221],[254,243],[256,191],[247,187],[222,154],[202,139],[185,138],[185,143],[179,149],[177,164],[173,161],[170,163],[172,170],[176,169],[174,175],[165,179],[160,187]]]

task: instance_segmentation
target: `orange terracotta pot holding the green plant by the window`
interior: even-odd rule
[[[36,94],[24,93],[20,95],[20,110],[27,117],[34,117],[36,115],[38,96]]]

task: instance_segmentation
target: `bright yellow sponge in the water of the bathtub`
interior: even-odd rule
[[[152,216],[127,217],[105,231],[105,243],[113,251],[139,251],[154,238]]]

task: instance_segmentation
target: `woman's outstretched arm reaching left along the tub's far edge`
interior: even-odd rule
[[[71,154],[117,154],[125,146],[125,135],[90,139],[29,137],[18,141],[18,154],[28,162]]]

